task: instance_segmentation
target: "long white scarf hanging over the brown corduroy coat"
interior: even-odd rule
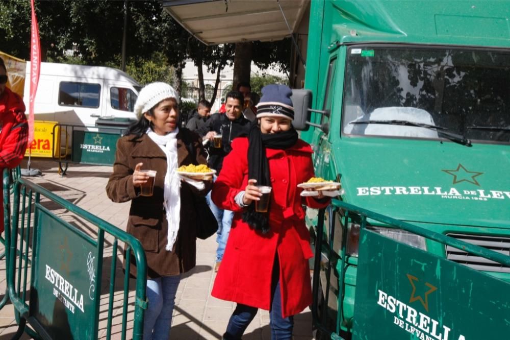
[[[177,132],[179,132],[179,128],[161,136],[150,128],[146,131],[147,136],[158,144],[166,155],[164,206],[166,220],[168,221],[167,245],[165,249],[168,251],[172,251],[181,222],[181,179],[175,174],[177,170]]]

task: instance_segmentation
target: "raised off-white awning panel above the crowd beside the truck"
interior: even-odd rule
[[[295,32],[310,0],[279,0]],[[163,8],[208,45],[275,41],[290,36],[277,0],[163,0]]]

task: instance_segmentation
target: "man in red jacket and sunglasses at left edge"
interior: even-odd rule
[[[7,67],[0,58],[0,173],[13,168],[27,149],[28,123],[20,96],[6,87]],[[4,188],[0,182],[0,233],[4,231]]]

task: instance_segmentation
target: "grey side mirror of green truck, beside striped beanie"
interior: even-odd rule
[[[296,130],[308,131],[309,126],[321,129],[325,134],[329,131],[328,124],[310,123],[310,112],[317,112],[329,117],[329,110],[312,110],[312,91],[307,89],[292,89],[290,97],[294,106],[294,121],[292,125]]]

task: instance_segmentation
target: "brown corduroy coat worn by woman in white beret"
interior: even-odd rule
[[[188,152],[192,143],[195,160]],[[200,137],[188,129],[177,133],[178,164],[207,164]],[[151,197],[140,196],[138,188],[133,186],[133,172],[136,164],[143,163],[142,169],[156,170],[154,194]],[[164,180],[167,162],[165,153],[146,134],[141,137],[123,136],[117,141],[117,151],[113,174],[110,176],[106,191],[114,202],[131,200],[127,232],[140,240],[147,257],[147,277],[177,275],[191,270],[196,260],[196,221],[193,195],[205,196],[212,183],[206,182],[206,188],[198,191],[195,187],[182,182],[181,185],[181,222],[179,233],[171,252],[165,250],[167,244],[168,222],[163,210]],[[125,269],[125,253],[124,253]],[[136,276],[135,259],[132,256],[130,274]]]

